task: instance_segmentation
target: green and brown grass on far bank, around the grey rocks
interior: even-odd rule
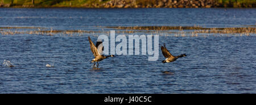
[[[109,1],[118,2],[118,0],[0,0],[0,7],[109,7],[109,6],[104,6]],[[131,1],[135,1],[135,2],[131,2]],[[163,0],[163,1],[168,1],[168,0]],[[217,7],[256,7],[256,0],[192,0],[192,1],[193,2],[204,1],[205,3],[215,1],[218,3]],[[183,2],[183,0],[172,0],[172,3],[176,3],[176,2]],[[126,5],[131,5],[130,3],[135,3],[135,5],[140,5],[141,7],[153,7],[154,5],[159,5],[157,4],[159,2],[156,0],[127,0],[124,3],[126,3]]]

